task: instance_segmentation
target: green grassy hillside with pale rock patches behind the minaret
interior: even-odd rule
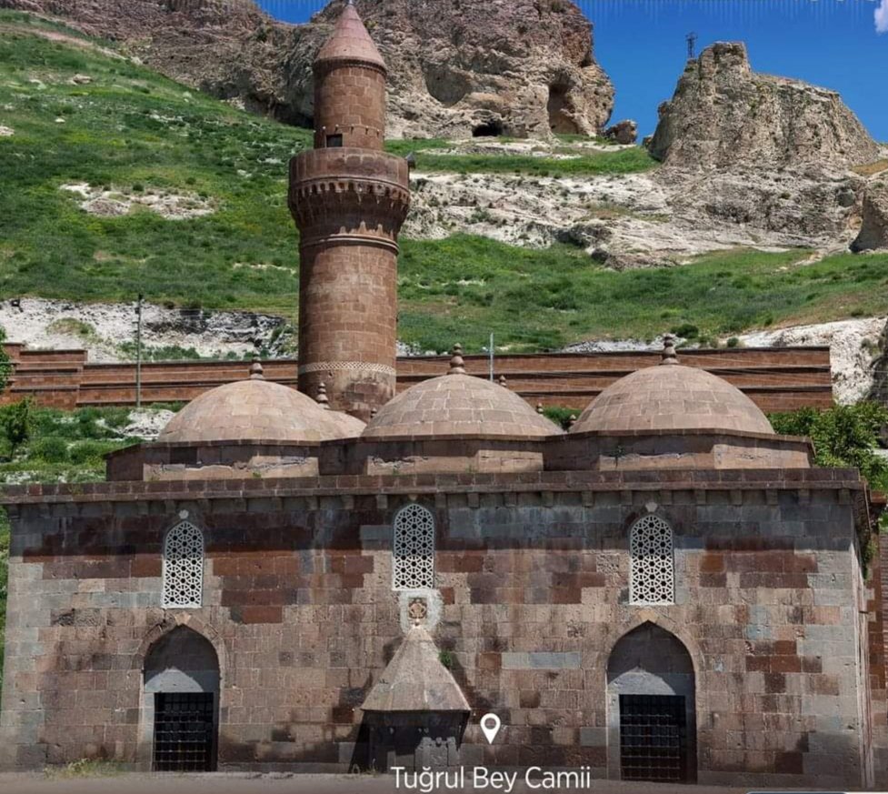
[[[134,46],[0,12],[0,296],[22,298],[0,305],[0,325],[127,356],[142,292],[152,356],[292,349],[286,163],[311,136],[165,79],[126,56]],[[848,246],[862,213],[876,234],[861,242],[883,245],[888,160],[701,171],[580,136],[386,149],[416,161],[399,262],[413,349],[477,350],[491,330],[512,352],[664,330],[704,345],[798,325],[835,338],[853,317],[866,323],[840,346],[853,368],[884,355],[865,318],[884,326],[888,252]]]

